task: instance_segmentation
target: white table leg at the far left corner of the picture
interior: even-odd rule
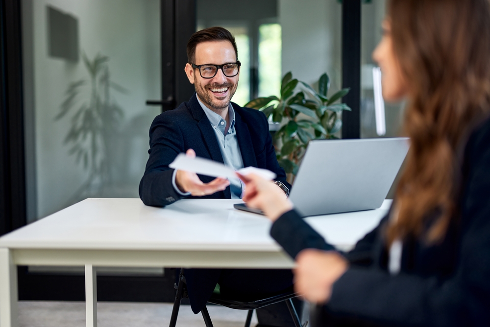
[[[17,266],[9,249],[0,249],[0,327],[17,327]]]

